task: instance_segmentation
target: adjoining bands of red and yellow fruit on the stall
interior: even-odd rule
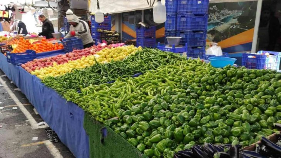
[[[46,76],[58,77],[71,72],[72,69],[89,67],[95,64],[96,61],[104,63],[108,62],[108,60],[123,59],[128,54],[132,54],[138,50],[138,48],[134,48],[133,46],[108,47],[105,48],[105,46],[98,45],[83,50],[74,50],[72,53],[58,55],[57,57],[50,57],[51,59],[34,59],[32,62],[23,64],[22,67],[32,75],[37,75],[40,79]]]

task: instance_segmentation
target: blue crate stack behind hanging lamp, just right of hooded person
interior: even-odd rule
[[[111,30],[111,16],[104,17],[104,21],[102,23],[97,23],[95,21],[95,16],[91,15],[91,31],[92,31],[92,38],[100,39],[101,33],[99,33],[98,29],[105,29],[105,30]]]

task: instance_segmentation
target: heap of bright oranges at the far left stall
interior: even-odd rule
[[[58,49],[63,49],[64,46],[60,43],[49,43],[45,38],[42,38],[42,40],[39,43],[31,44],[30,41],[24,38],[20,38],[19,42],[17,43],[17,48],[15,48],[12,53],[21,53],[25,52],[27,49],[31,49],[36,51],[36,53],[40,52],[47,52],[47,51],[55,51]]]

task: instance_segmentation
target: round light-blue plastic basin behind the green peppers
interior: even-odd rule
[[[211,65],[216,68],[223,68],[226,65],[233,65],[237,59],[228,57],[211,57],[208,58]]]

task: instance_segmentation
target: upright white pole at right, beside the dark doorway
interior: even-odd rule
[[[262,0],[258,0],[254,36],[253,36],[253,42],[252,42],[252,51],[251,51],[252,53],[256,53],[256,49],[257,49],[261,10],[262,10]]]

